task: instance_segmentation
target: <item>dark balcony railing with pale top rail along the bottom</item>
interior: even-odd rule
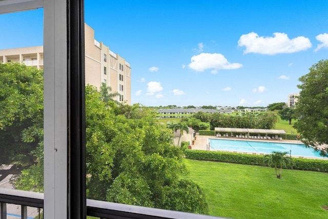
[[[27,207],[43,208],[43,193],[0,188],[0,218],[7,218],[7,204],[22,206],[21,218],[27,218]],[[146,208],[96,200],[87,200],[87,215],[99,218],[146,218],[146,219],[210,219],[222,218],[209,215]]]

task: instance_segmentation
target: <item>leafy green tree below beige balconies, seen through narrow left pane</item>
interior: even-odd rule
[[[43,71],[0,63],[0,161],[31,165],[43,140]]]

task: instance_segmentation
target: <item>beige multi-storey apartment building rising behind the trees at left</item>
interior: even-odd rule
[[[19,62],[43,69],[43,46],[0,50],[0,62]],[[105,83],[118,92],[116,100],[131,105],[131,67],[118,54],[94,38],[94,30],[85,24],[86,85],[97,88]]]

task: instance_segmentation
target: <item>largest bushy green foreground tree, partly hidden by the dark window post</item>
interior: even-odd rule
[[[0,89],[1,90],[1,89]],[[208,213],[201,189],[181,180],[187,169],[172,132],[152,109],[107,105],[86,86],[87,197],[129,205]],[[16,188],[43,191],[43,153],[15,181]]]

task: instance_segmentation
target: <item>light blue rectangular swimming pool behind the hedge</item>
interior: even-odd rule
[[[288,152],[292,156],[321,157],[320,151],[313,148],[305,148],[303,144],[289,144],[280,142],[255,142],[209,139],[210,150],[252,152],[252,153],[272,153],[272,151]]]

